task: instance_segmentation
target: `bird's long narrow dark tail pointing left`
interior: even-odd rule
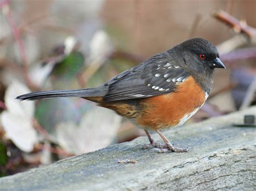
[[[41,100],[53,97],[102,97],[107,93],[107,87],[87,88],[78,90],[39,91],[16,97],[18,100]],[[90,98],[88,99],[90,100]]]

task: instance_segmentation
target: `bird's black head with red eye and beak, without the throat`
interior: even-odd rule
[[[217,48],[208,40],[194,38],[177,46],[185,64],[194,72],[211,72],[214,68],[225,68],[219,59]]]

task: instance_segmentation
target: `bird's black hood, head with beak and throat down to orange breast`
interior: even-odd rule
[[[225,68],[219,59],[217,48],[208,40],[194,38],[174,47],[176,55],[182,59],[183,67],[190,72],[196,81],[210,92],[214,68]]]

